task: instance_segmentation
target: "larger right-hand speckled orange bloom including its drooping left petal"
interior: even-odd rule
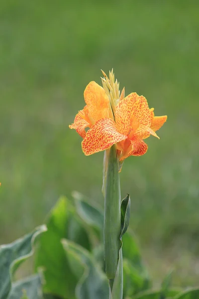
[[[129,94],[116,105],[115,121],[109,118],[100,119],[86,134],[82,149],[86,155],[109,149],[116,144],[119,160],[130,155],[143,155],[148,146],[143,139],[160,129],[167,117],[154,117],[147,100],[136,93]],[[152,120],[152,121],[151,121]]]

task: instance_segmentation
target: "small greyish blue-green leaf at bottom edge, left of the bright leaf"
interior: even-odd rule
[[[24,292],[25,291],[25,292]],[[39,275],[13,283],[8,299],[42,299],[41,278]]]

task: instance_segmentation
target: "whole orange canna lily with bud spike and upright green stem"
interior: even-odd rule
[[[148,146],[144,142],[150,135],[159,138],[156,131],[166,122],[167,116],[155,117],[143,96],[131,93],[125,97],[124,88],[102,71],[103,88],[92,81],[86,87],[86,106],[79,111],[69,126],[82,136],[82,149],[86,155],[104,151],[104,262],[109,280],[109,298],[123,298],[123,265],[121,237],[127,229],[130,197],[121,201],[119,173],[125,158],[143,155]],[[89,128],[87,132],[86,128]],[[122,216],[122,217],[121,217]]]

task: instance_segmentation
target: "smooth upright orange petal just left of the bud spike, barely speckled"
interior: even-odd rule
[[[109,99],[104,89],[95,81],[90,82],[84,91],[85,102],[88,107],[88,116],[94,125],[101,118],[109,115]]]

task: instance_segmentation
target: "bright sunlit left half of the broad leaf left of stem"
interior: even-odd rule
[[[35,267],[44,270],[43,291],[75,299],[76,278],[70,270],[61,239],[67,237],[67,224],[71,206],[60,198],[47,219],[48,231],[40,238]]]

